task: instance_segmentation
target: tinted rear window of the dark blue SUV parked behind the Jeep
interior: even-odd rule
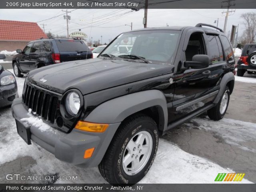
[[[89,48],[83,41],[77,40],[56,40],[59,51],[88,51]]]

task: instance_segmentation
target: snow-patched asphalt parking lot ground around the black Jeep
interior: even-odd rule
[[[256,75],[245,77],[256,81]],[[20,94],[24,78],[17,78],[17,82]],[[156,160],[141,183],[213,183],[219,172],[245,173],[243,182],[255,183],[255,100],[256,84],[236,80],[225,118],[214,122],[203,114],[168,132],[160,139]],[[0,109],[0,133],[0,154],[4,154],[0,157],[0,183],[67,182],[6,180],[6,174],[14,173],[57,178],[72,174],[78,180],[68,182],[105,182],[97,168],[78,168],[60,162],[35,144],[27,146],[16,133],[10,108]]]

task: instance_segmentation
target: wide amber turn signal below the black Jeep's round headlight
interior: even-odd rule
[[[106,131],[107,128],[108,124],[91,123],[86,121],[78,121],[75,126],[75,129],[96,133],[102,133]]]

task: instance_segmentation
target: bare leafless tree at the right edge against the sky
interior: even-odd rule
[[[241,15],[245,25],[244,37],[246,43],[253,43],[256,36],[256,13],[248,12]]]

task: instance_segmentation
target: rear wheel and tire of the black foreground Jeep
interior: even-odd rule
[[[211,120],[218,121],[224,117],[228,109],[229,99],[230,99],[230,90],[228,86],[226,86],[224,93],[222,94],[218,104],[207,111],[207,114]]]

